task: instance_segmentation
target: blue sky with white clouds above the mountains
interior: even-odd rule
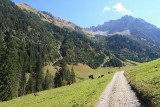
[[[160,28],[160,0],[12,0],[71,21],[80,27],[103,24],[124,15],[142,18]]]

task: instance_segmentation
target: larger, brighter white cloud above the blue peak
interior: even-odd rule
[[[113,6],[113,8],[116,9],[117,12],[121,12],[125,15],[131,15],[131,12],[128,9],[126,9],[121,3],[117,3]]]

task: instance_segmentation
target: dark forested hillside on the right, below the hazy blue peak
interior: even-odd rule
[[[103,49],[125,61],[129,59],[137,62],[147,62],[160,57],[160,51],[130,36],[120,34],[110,36],[96,36],[96,42]]]

